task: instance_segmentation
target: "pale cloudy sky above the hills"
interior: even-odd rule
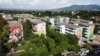
[[[54,9],[71,5],[100,5],[100,0],[0,0],[0,8],[5,9]]]

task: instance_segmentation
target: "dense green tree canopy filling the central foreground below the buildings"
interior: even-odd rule
[[[77,44],[78,39],[74,35],[70,34],[61,34],[56,32],[53,29],[50,29],[49,22],[47,22],[47,38],[42,34],[38,36],[31,32],[28,33],[27,30],[31,29],[31,24],[28,24],[29,21],[24,23],[28,25],[25,27],[24,33],[24,41],[20,42],[21,46],[17,46],[15,49],[24,50],[25,52],[21,52],[15,54],[15,56],[49,56],[56,55],[58,53],[63,52],[64,50],[68,51],[78,51],[80,48]]]

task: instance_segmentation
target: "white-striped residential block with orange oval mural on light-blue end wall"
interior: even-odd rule
[[[76,35],[78,39],[80,39],[82,37],[83,28],[74,24],[60,23],[60,25],[57,25],[56,30],[63,34],[69,33]]]

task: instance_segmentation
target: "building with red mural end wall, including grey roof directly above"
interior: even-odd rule
[[[9,42],[17,43],[23,39],[23,26],[17,21],[7,21],[10,28]]]

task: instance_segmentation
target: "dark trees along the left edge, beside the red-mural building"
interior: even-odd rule
[[[8,52],[6,45],[9,35],[7,22],[0,15],[0,56],[3,56]]]

